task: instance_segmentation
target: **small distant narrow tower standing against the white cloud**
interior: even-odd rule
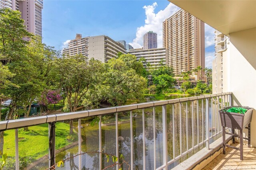
[[[143,35],[143,49],[156,49],[157,48],[157,33],[148,31]]]

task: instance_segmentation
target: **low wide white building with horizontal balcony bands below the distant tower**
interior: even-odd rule
[[[166,48],[158,49],[130,49],[129,52],[132,55],[137,57],[139,61],[142,57],[146,60],[143,62],[143,66],[148,68],[147,64],[150,64],[150,67],[155,68],[162,65],[166,65],[167,51]]]

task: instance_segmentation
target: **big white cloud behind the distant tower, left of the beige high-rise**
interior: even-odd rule
[[[154,2],[152,5],[144,6],[146,20],[145,24],[141,27],[137,28],[136,38],[133,39],[132,43],[129,43],[134,48],[141,48],[143,41],[143,35],[148,31],[153,31],[157,33],[157,44],[158,48],[163,46],[163,25],[162,22],[172,16],[176,11],[180,8],[170,3],[164,10],[160,10],[157,14],[155,14],[154,10],[157,7],[157,3]]]

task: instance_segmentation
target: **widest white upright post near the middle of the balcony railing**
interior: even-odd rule
[[[163,122],[163,163],[165,169],[168,169],[168,147],[167,147],[167,114],[166,105],[162,106],[162,122]]]

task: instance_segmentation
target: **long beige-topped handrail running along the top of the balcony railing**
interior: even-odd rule
[[[227,95],[232,94],[231,92],[225,93]],[[214,94],[214,96],[221,96],[223,94]],[[210,98],[212,95],[205,95],[205,96],[196,96],[191,98],[182,98],[182,99],[172,99],[172,100],[165,100],[160,102],[148,102],[142,104],[132,104],[126,106],[117,106],[117,107],[108,107],[108,108],[101,108],[101,109],[92,109],[92,110],[84,110],[84,111],[76,111],[71,113],[62,113],[57,115],[48,115],[48,116],[38,116],[38,117],[28,117],[25,119],[16,119],[16,120],[9,120],[9,121],[0,121],[0,131],[5,131],[8,129],[18,129],[21,127],[30,127],[33,125],[40,125],[43,123],[50,123],[53,121],[67,121],[67,120],[75,120],[75,119],[82,119],[88,116],[96,116],[96,115],[105,115],[110,113],[116,113],[118,111],[131,111],[134,109],[143,109],[152,106],[164,106],[167,104],[175,104],[187,101],[198,100],[201,98]]]

